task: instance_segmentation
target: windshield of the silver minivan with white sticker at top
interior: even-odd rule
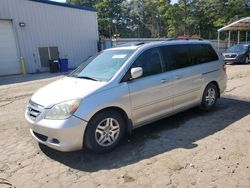
[[[103,51],[81,64],[69,76],[109,81],[133,54],[134,50]]]

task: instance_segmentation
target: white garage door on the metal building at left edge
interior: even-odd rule
[[[19,73],[21,66],[12,22],[0,20],[0,76]]]

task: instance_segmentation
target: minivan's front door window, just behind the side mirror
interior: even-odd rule
[[[143,52],[133,63],[131,68],[142,67],[143,77],[162,72],[161,53],[158,48]]]

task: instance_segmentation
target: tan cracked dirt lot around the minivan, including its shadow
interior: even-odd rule
[[[250,65],[227,72],[214,111],[194,108],[144,126],[105,154],[61,153],[32,139],[27,102],[60,75],[0,78],[0,187],[249,188]]]

